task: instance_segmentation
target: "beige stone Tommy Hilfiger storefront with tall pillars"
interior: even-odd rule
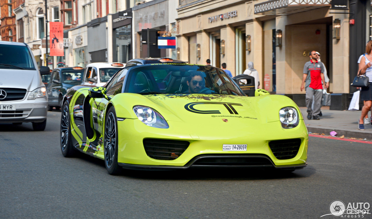
[[[247,68],[245,9],[246,3],[236,1],[180,6],[177,9],[180,58],[197,64],[206,64],[210,59],[211,65],[218,68],[226,63],[233,76],[243,73]]]

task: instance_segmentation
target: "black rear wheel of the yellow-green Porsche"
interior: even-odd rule
[[[73,157],[76,154],[71,142],[71,122],[70,111],[68,110],[67,101],[63,104],[61,114],[61,151],[64,157]]]

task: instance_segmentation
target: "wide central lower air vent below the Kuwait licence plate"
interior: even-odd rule
[[[272,163],[266,157],[203,157],[193,165],[198,166],[262,166]]]

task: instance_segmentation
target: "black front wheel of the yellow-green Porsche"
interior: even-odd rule
[[[109,174],[121,173],[122,168],[118,164],[118,123],[115,109],[111,107],[106,115],[105,135],[103,137],[103,152],[105,154],[105,166]]]

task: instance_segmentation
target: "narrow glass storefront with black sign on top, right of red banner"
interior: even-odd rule
[[[112,15],[112,46],[113,62],[132,59],[132,9]]]

